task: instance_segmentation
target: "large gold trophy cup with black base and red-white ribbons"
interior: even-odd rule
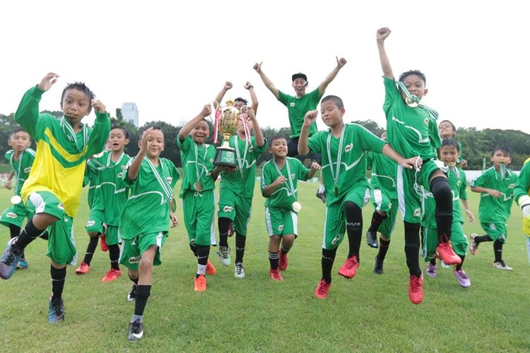
[[[219,107],[218,102],[213,102],[213,108],[216,109],[215,128],[213,129],[214,143],[217,142],[217,131],[220,131],[223,135],[223,144],[217,148],[216,159],[213,160],[213,164],[236,168],[235,148],[231,148],[228,145],[228,140],[230,140],[232,135],[235,135],[237,131],[237,119],[239,119],[241,113],[246,112],[247,107],[243,106],[241,110],[237,109],[234,107],[232,100],[226,101],[226,104],[225,107]]]

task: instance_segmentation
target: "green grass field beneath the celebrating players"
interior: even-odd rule
[[[177,185],[179,188],[180,184]],[[141,342],[126,341],[134,302],[126,294],[131,282],[102,283],[110,268],[108,253],[95,253],[88,275],[75,275],[72,266],[64,290],[66,316],[58,325],[47,323],[51,292],[46,241],[37,239],[25,251],[28,270],[17,270],[0,282],[1,352],[527,352],[530,350],[530,265],[521,213],[514,206],[504,247],[507,272],[492,267],[493,247],[483,243],[477,256],[469,255],[464,269],[471,287],[457,284],[452,270],[440,268],[438,277],[425,276],[425,299],[408,300],[408,270],[403,251],[403,226],[394,232],[384,274],[372,273],[377,250],[363,244],[361,265],[353,280],[336,271],[346,258],[347,240],[338,249],[334,280],[326,300],[312,297],[321,277],[324,205],[314,197],[317,184],[299,184],[302,211],[300,236],[290,252],[283,282],[269,279],[268,238],[264,228],[264,199],[256,189],[249,225],[245,272],[211,259],[218,275],[208,277],[208,290],[193,291],[196,259],[187,245],[184,225],[172,229],[163,248],[163,265],[154,270],[153,289],[146,307]],[[10,191],[0,191],[6,208]],[[478,217],[478,195],[469,192]],[[83,199],[85,200],[85,199]],[[364,209],[366,230],[372,206]],[[83,201],[76,219],[76,242],[82,258],[88,243],[84,225],[88,207]],[[182,212],[179,210],[182,222]],[[2,227],[2,244],[8,229]],[[464,229],[482,233],[480,225]],[[234,239],[229,239],[232,256]],[[4,249],[4,246],[2,249]]]

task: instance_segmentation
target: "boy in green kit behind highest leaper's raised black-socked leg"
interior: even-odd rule
[[[446,138],[442,140],[442,145],[438,151],[440,160],[444,162],[447,172],[447,180],[451,186],[453,194],[453,224],[451,227],[451,245],[454,252],[461,258],[461,263],[454,266],[454,276],[457,277],[458,283],[461,287],[467,288],[471,286],[471,280],[467,273],[462,270],[462,265],[466,258],[467,252],[467,238],[464,234],[464,218],[462,218],[462,212],[459,205],[461,201],[464,205],[464,211],[469,217],[469,222],[475,222],[475,216],[469,208],[467,202],[467,181],[466,174],[462,169],[458,167],[459,160],[459,143],[453,138]],[[421,221],[421,227],[423,232],[423,258],[428,261],[427,270],[425,273],[429,277],[436,277],[437,265],[436,265],[436,246],[438,245],[438,237],[436,230],[435,220],[435,200],[432,195],[427,194],[425,198],[425,217]]]

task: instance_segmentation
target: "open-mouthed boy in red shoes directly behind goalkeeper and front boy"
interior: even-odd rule
[[[129,196],[129,189],[122,179],[123,169],[129,162],[129,155],[124,152],[125,145],[129,143],[129,132],[123,126],[113,126],[109,135],[110,150],[105,150],[98,155],[90,157],[87,170],[93,175],[90,187],[95,195],[90,204],[90,215],[86,231],[90,237],[83,262],[77,268],[78,275],[90,271],[90,261],[98,246],[98,238],[109,251],[110,270],[103,277],[102,282],[117,280],[122,272],[119,270],[118,226],[119,216]],[[103,240],[105,236],[105,240]],[[103,248],[103,249],[105,249]]]

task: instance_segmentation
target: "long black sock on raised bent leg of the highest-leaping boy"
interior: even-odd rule
[[[444,177],[435,177],[430,182],[430,191],[435,198],[435,220],[438,231],[438,241],[447,243],[451,238],[453,223],[453,193],[449,181]]]

